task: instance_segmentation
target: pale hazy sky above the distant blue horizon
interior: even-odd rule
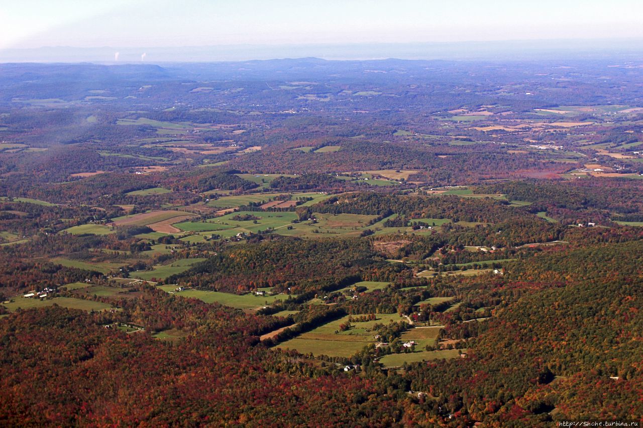
[[[0,48],[643,37],[643,0],[0,3]]]

